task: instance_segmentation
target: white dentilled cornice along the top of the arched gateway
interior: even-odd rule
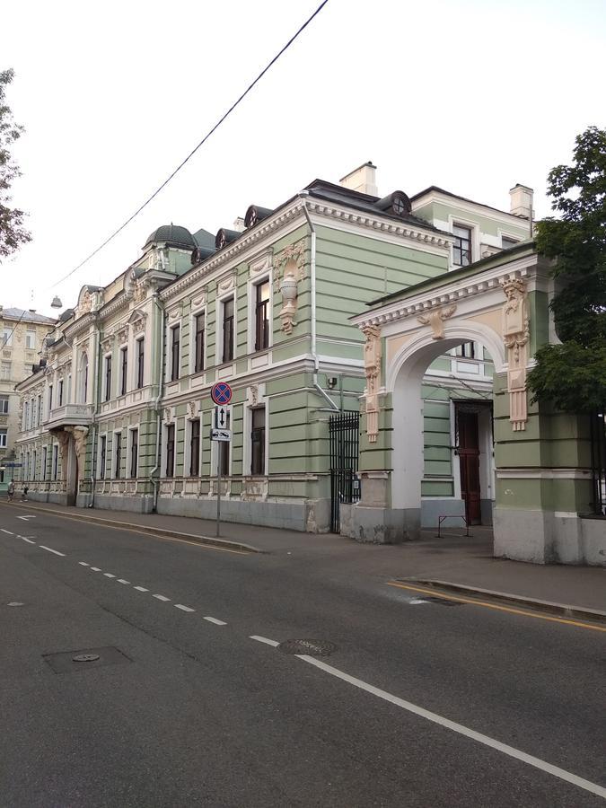
[[[369,325],[382,326],[389,322],[404,320],[411,315],[444,305],[444,303],[459,303],[464,298],[498,289],[505,278],[534,277],[535,273],[531,272],[531,268],[536,268],[536,264],[537,256],[533,254],[507,264],[485,269],[473,276],[452,278],[450,283],[448,274],[445,274],[443,285],[419,291],[417,294],[394,301],[394,303],[386,303],[380,309],[358,314],[351,319],[351,322],[360,329]]]

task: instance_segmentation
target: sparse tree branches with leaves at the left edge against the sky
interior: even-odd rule
[[[13,180],[21,176],[10,147],[23,133],[23,127],[14,122],[5,100],[6,87],[13,81],[13,75],[13,70],[0,71],[0,261],[31,240],[30,233],[23,226],[25,214],[18,207],[9,205]]]

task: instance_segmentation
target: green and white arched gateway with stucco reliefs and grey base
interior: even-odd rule
[[[417,538],[421,385],[436,357],[474,342],[494,364],[494,467],[487,474],[495,481],[495,555],[606,563],[604,523],[583,518],[593,498],[586,421],[531,404],[526,389],[537,348],[557,341],[552,284],[549,263],[525,244],[388,295],[354,318],[365,337],[362,490],[359,503],[342,505],[342,532],[375,542]]]

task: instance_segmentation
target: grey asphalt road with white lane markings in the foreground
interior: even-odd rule
[[[0,806],[603,805],[606,633],[419,600],[2,504]]]

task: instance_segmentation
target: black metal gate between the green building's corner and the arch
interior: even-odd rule
[[[342,412],[330,416],[330,531],[341,527],[340,505],[357,502],[360,482],[356,477],[360,450],[360,414]]]

